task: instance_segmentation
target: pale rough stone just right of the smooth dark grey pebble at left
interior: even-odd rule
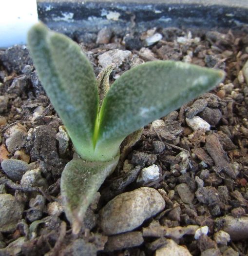
[[[20,184],[23,186],[32,187],[48,187],[46,179],[41,177],[41,171],[39,169],[27,171],[21,178]]]

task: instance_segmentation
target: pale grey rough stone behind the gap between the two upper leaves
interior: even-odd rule
[[[108,65],[113,64],[115,67],[119,67],[125,59],[131,56],[131,51],[123,50],[110,50],[98,56],[98,62],[102,68],[106,68]]]

